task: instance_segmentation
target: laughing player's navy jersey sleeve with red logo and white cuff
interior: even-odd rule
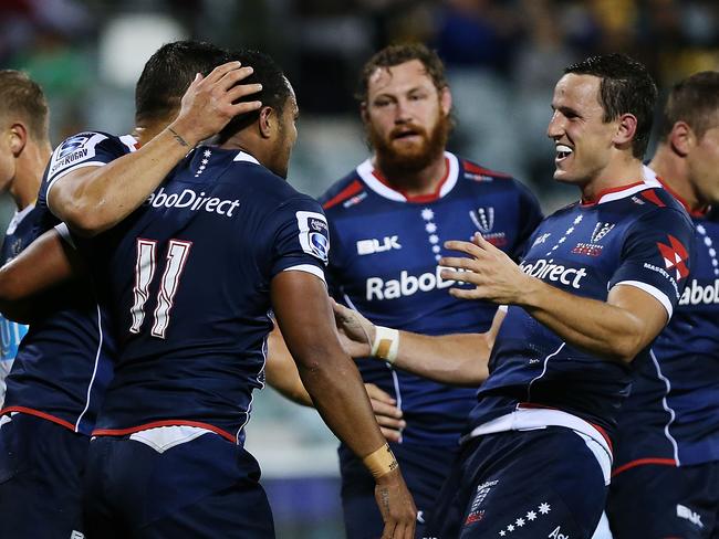
[[[692,225],[687,215],[673,209],[648,213],[627,231],[621,264],[608,287],[640,288],[671,318],[689,275],[692,251]]]

